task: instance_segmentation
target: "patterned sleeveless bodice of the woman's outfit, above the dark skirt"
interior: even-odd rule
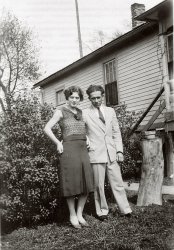
[[[61,111],[63,118],[60,120],[59,125],[63,138],[70,135],[86,135],[85,122],[80,109],[77,109],[77,114],[74,114],[66,107],[62,107]]]

